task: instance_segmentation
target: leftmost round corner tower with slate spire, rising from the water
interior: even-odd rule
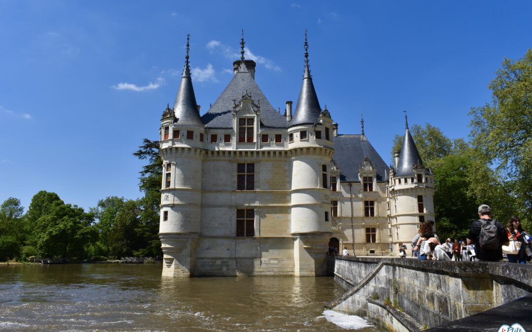
[[[185,68],[173,108],[161,119],[163,159],[159,236],[163,276],[188,277],[194,273],[195,246],[200,234],[204,124],[190,78],[189,36]],[[179,166],[179,167],[176,167]]]

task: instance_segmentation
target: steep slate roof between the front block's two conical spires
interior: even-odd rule
[[[262,93],[251,74],[247,71],[245,64],[241,64],[226,89],[214,102],[211,108],[202,116],[205,126],[210,128],[230,128],[232,127],[232,107],[233,99],[236,102],[242,99],[243,93],[250,93],[257,103],[261,104],[261,127],[286,128],[286,118],[279,114]]]

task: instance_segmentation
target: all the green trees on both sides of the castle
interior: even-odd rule
[[[503,223],[511,215],[531,230],[532,49],[505,59],[489,84],[492,101],[472,108],[468,139],[450,139],[436,126],[413,125],[412,137],[435,176],[434,208],[440,239],[465,238],[477,207],[486,203]],[[396,135],[392,149],[400,149]],[[26,213],[16,198],[0,206],[0,261],[30,257],[74,260],[161,257],[159,141],[144,139],[134,155],[146,160],[136,200],[107,197],[89,211],[39,191]]]

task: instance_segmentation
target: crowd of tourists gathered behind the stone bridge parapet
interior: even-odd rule
[[[512,216],[504,227],[492,219],[492,209],[483,204],[478,207],[479,219],[469,229],[467,239],[448,238],[442,243],[434,231],[434,221],[427,220],[412,239],[411,256],[420,260],[503,261],[526,264],[532,257],[532,237],[521,227],[519,217]],[[399,256],[406,258],[407,247],[399,242]]]

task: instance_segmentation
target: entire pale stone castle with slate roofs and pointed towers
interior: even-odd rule
[[[200,115],[185,69],[161,120],[160,238],[165,276],[326,274],[330,246],[397,254],[434,219],[434,178],[408,131],[387,166],[363,133],[338,134],[305,69],[294,113],[277,112],[242,57]],[[319,74],[318,74],[319,76]]]

